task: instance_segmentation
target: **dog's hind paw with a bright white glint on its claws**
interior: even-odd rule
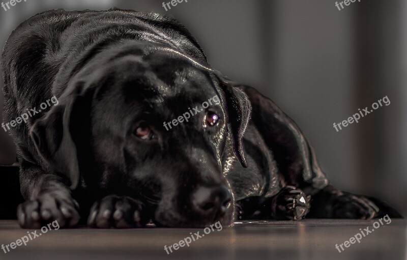
[[[272,201],[272,211],[276,219],[300,220],[307,215],[311,196],[294,186],[286,186]]]

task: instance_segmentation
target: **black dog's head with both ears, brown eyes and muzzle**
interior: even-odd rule
[[[132,45],[96,55],[59,101],[32,137],[72,189],[139,198],[163,226],[231,223],[225,151],[246,166],[251,110],[234,83],[173,49]]]

